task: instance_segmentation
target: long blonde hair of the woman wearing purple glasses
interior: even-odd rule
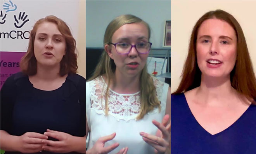
[[[120,15],[112,20],[106,28],[104,34],[104,46],[109,44],[112,40],[112,36],[116,30],[118,30],[121,26],[125,24],[131,23],[142,23],[148,29],[148,34],[150,38],[150,27],[145,21],[134,16],[134,15]],[[90,80],[93,80],[101,75],[106,76],[107,81],[107,90],[105,95],[105,113],[108,115],[108,97],[109,97],[109,84],[111,78],[114,77],[114,72],[116,70],[116,65],[114,60],[112,60],[106,51],[102,52],[100,57],[100,61],[97,64],[95,71],[93,72]],[[103,95],[102,95],[103,96]],[[144,117],[145,114],[154,110],[154,108],[158,107],[159,112],[161,111],[160,101],[156,95],[156,87],[154,86],[154,82],[152,77],[147,73],[147,65],[144,66],[142,72],[140,74],[140,102],[141,108],[140,113],[137,116],[137,120],[140,120]]]

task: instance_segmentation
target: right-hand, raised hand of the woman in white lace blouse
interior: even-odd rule
[[[155,136],[148,133],[140,132],[142,139],[147,142],[147,144],[155,148],[156,154],[164,154],[169,146],[169,142],[171,139],[171,123],[167,125],[169,117],[169,115],[165,115],[162,123],[159,123],[156,120],[152,120],[152,123],[158,128]]]

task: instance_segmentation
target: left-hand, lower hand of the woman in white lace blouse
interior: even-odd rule
[[[119,146],[119,143],[114,143],[108,147],[104,147],[105,142],[114,139],[116,133],[112,133],[111,135],[107,135],[104,137],[100,137],[96,143],[93,145],[92,149],[87,150],[88,154],[108,154],[109,152],[116,149]],[[116,154],[127,154],[128,147],[121,149]]]

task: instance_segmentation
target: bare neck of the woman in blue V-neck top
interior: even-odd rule
[[[230,76],[209,77],[202,75],[201,85],[196,95],[200,96],[203,102],[211,105],[221,105],[223,102],[230,102],[236,96],[236,90],[231,86]]]

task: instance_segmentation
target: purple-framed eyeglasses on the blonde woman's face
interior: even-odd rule
[[[129,44],[129,43],[111,43],[113,44],[116,48],[116,52],[121,54],[121,55],[125,55],[125,54],[129,54],[131,51],[131,48],[135,48],[136,51],[140,54],[147,54],[150,51],[150,48],[152,46],[152,43],[150,42],[140,42],[137,44]]]

